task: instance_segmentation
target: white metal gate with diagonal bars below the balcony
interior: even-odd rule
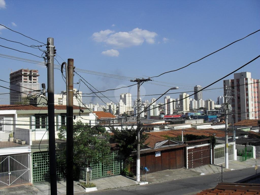
[[[29,154],[0,157],[0,187],[30,182]]]

